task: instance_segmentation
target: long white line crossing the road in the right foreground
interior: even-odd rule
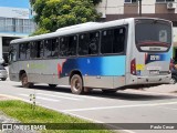
[[[135,104],[135,105],[119,105],[119,106],[101,106],[101,108],[87,108],[87,109],[71,109],[71,110],[63,110],[64,112],[72,112],[72,111],[93,111],[93,110],[107,110],[107,109],[125,109],[125,108],[142,108],[142,106],[156,106],[156,105],[169,105],[169,104],[177,104],[177,102],[168,102],[168,103],[152,103],[152,104]]]

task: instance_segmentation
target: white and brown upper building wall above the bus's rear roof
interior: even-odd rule
[[[167,2],[156,2],[156,0],[142,0],[142,14],[144,17],[154,17],[177,21],[177,0],[175,0],[174,6],[176,6],[176,8],[168,9]],[[98,12],[103,12],[103,14],[106,14],[105,21],[138,17],[139,3],[127,3],[125,2],[125,0],[103,0],[97,6],[97,10]]]

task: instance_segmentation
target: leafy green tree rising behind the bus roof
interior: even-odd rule
[[[53,32],[59,28],[96,21],[94,4],[101,0],[31,0],[38,30],[33,34]]]

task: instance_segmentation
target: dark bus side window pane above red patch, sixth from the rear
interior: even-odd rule
[[[63,37],[60,39],[60,55],[66,57],[67,55],[67,37]]]

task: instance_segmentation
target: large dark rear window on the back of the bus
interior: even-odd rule
[[[167,51],[171,44],[171,25],[163,20],[136,20],[135,39],[139,51]]]

